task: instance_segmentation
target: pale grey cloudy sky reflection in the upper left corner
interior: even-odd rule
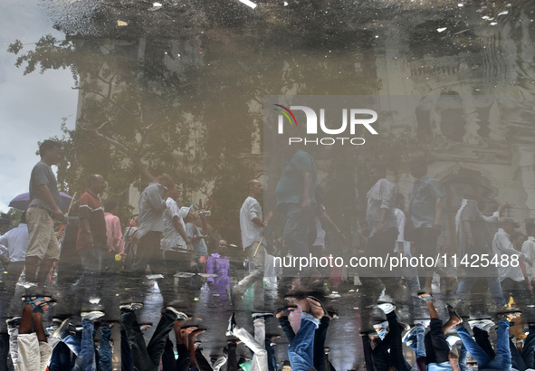
[[[74,126],[77,92],[72,90],[71,71],[47,71],[23,75],[14,66],[16,56],[7,52],[14,40],[31,47],[43,35],[62,38],[43,11],[42,2],[5,0],[0,5],[0,211],[7,211],[9,201],[28,192],[28,180],[37,141],[60,135],[63,117]]]

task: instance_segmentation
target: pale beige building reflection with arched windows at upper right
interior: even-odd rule
[[[522,14],[518,22],[530,20]],[[383,109],[396,111],[391,128],[409,127],[430,153],[430,175],[447,192],[444,225],[454,224],[468,186],[485,200],[486,212],[509,202],[515,220],[534,217],[535,89],[519,82],[532,80],[533,43],[518,43],[530,40],[528,29],[514,23],[499,31],[481,27],[470,39],[480,43],[478,53],[430,52],[410,61],[400,57],[411,55],[410,42],[399,30],[389,31],[385,52],[377,54],[377,75],[385,81],[379,95],[419,96],[413,105]],[[404,194],[412,181],[399,179]],[[442,238],[454,244],[453,231]]]

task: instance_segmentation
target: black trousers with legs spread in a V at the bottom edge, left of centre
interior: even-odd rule
[[[136,313],[129,309],[120,310],[120,324],[126,332],[129,346],[132,349],[134,370],[158,371],[159,359],[166,347],[167,334],[173,329],[176,320],[177,315],[166,310],[159,319],[158,327],[146,347]]]

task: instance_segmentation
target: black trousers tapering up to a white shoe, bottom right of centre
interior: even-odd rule
[[[409,371],[410,367],[403,357],[401,327],[397,323],[394,311],[387,314],[387,321],[390,328],[387,336],[372,350],[374,367],[376,371],[387,371],[391,366],[396,367],[397,371]]]

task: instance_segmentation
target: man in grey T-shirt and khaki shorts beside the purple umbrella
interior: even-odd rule
[[[54,221],[66,222],[52,167],[60,162],[60,144],[44,140],[39,146],[41,161],[30,177],[30,205],[26,212],[29,243],[26,251],[26,281],[44,288],[46,275],[60,258],[60,244],[54,234]],[[39,274],[37,275],[37,270]],[[37,277],[36,277],[37,275]]]

